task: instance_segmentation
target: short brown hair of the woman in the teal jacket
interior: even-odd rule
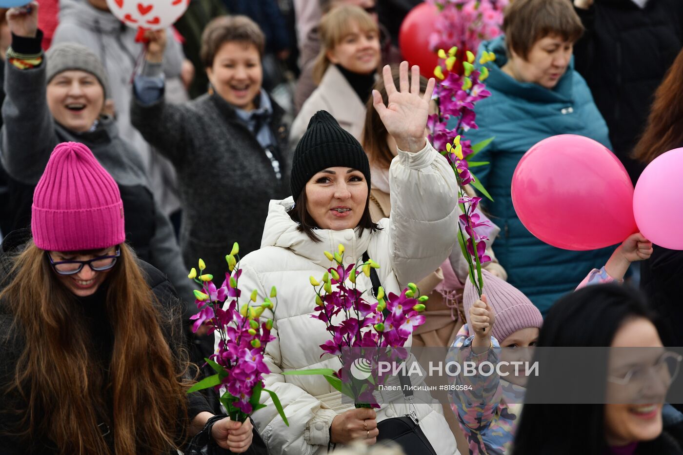
[[[546,36],[576,42],[583,25],[569,0],[515,0],[505,8],[503,33],[507,52],[526,60],[533,44]]]

